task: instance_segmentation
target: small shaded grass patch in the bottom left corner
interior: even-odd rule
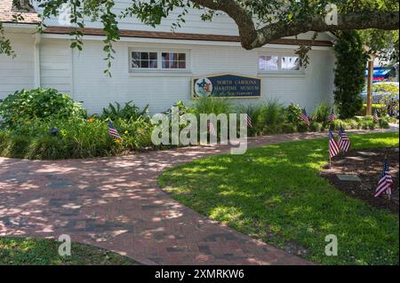
[[[71,256],[60,256],[60,242],[29,238],[0,238],[0,265],[135,265],[111,251],[72,243]]]

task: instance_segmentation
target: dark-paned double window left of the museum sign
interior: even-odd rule
[[[187,70],[188,52],[131,51],[131,70]]]

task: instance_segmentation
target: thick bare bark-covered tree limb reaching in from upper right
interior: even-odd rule
[[[396,30],[399,25],[399,13],[360,11],[338,15],[338,25],[328,25],[324,15],[309,15],[302,20],[277,21],[267,26],[256,29],[252,15],[246,11],[236,0],[190,0],[192,3],[212,10],[226,12],[235,20],[239,28],[242,46],[251,50],[264,46],[276,39],[286,36],[299,35],[308,31],[326,32],[349,29],[379,28]]]

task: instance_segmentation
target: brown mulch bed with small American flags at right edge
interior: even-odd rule
[[[335,157],[332,167],[325,166],[321,176],[327,178],[336,188],[348,195],[364,200],[375,208],[388,208],[393,212],[399,211],[398,192],[398,148],[382,148],[373,150],[356,150],[346,156]],[[388,157],[390,173],[395,181],[391,200],[384,194],[375,198],[373,193],[378,185],[383,169],[385,155]],[[361,182],[341,181],[337,175],[357,175]]]

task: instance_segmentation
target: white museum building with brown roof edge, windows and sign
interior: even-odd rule
[[[122,11],[130,1],[117,2],[116,9]],[[312,33],[246,51],[239,42],[235,22],[223,13],[208,22],[200,19],[202,12],[194,10],[175,32],[171,27],[178,13],[172,13],[171,20],[156,28],[126,19],[119,25],[121,40],[114,44],[116,56],[112,77],[108,77],[103,74],[106,63],[99,22],[86,22],[84,51],[77,51],[70,48],[73,27],[65,13],[45,20],[47,28],[42,34],[36,33],[37,6],[24,13],[19,23],[12,22],[13,13],[12,0],[0,0],[0,21],[17,53],[14,59],[0,55],[0,99],[15,90],[54,88],[83,101],[92,114],[100,113],[110,102],[131,100],[158,113],[179,100],[190,101],[199,85],[209,88],[208,84],[214,83],[214,90],[224,90],[215,85],[218,82],[230,90],[236,83],[249,83],[246,78],[250,78],[258,80],[260,89],[249,86],[250,95],[234,93],[230,98],[241,103],[278,98],[284,104],[298,103],[308,111],[321,100],[332,101],[335,57],[334,36],[329,33],[317,36],[309,52],[309,65],[304,68],[299,67],[295,51],[300,43],[310,42]]]

